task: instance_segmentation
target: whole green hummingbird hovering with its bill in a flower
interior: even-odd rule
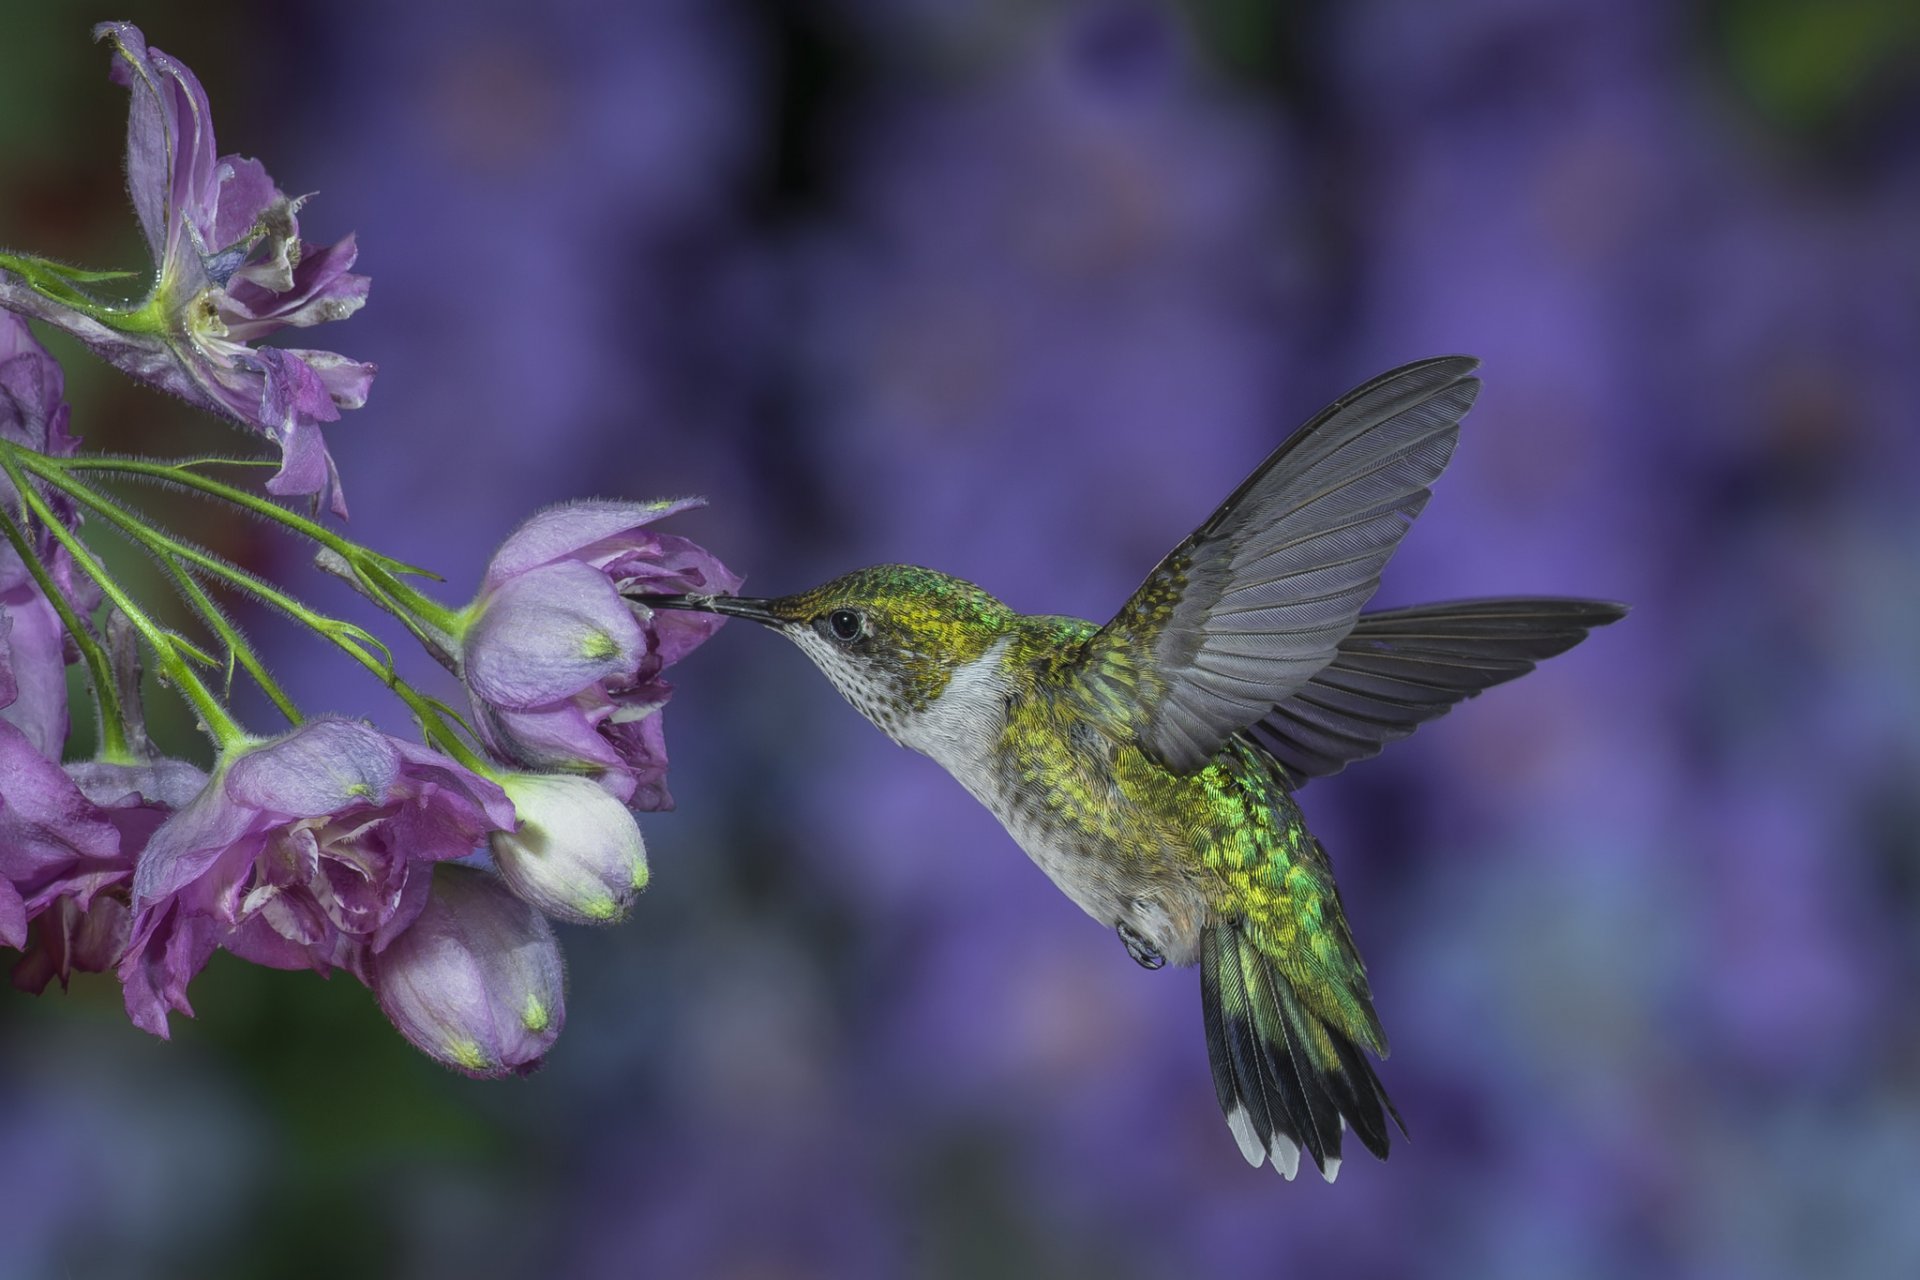
[[[1112,622],[1014,612],[881,564],[780,599],[636,595],[774,628],[933,756],[1148,969],[1200,965],[1221,1111],[1250,1165],[1332,1182],[1405,1125],[1332,865],[1294,793],[1626,614],[1484,599],[1361,614],[1446,468],[1478,361],[1405,365],[1292,434]]]

